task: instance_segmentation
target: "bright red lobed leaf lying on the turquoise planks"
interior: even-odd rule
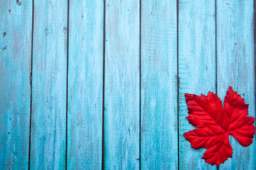
[[[189,109],[187,119],[197,129],[184,133],[184,137],[194,149],[207,149],[202,157],[206,162],[218,167],[228,157],[232,158],[229,135],[244,147],[252,143],[255,118],[247,117],[248,105],[232,87],[227,91],[224,108],[221,99],[211,91],[207,96],[185,94],[185,98]]]

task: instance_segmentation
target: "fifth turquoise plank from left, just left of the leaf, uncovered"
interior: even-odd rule
[[[142,1],[141,169],[177,169],[177,1]]]

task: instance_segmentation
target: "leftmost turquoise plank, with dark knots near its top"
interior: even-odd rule
[[[0,1],[0,169],[28,169],[32,1]]]

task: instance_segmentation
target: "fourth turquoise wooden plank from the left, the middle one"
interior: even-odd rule
[[[139,168],[139,9],[137,0],[106,0],[106,169]]]

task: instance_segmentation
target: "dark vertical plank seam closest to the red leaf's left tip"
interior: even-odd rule
[[[177,0],[177,144],[179,170],[179,0]]]

